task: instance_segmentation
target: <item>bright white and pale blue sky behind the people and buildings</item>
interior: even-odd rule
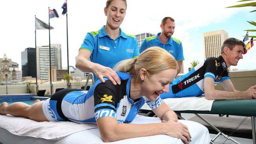
[[[51,43],[61,44],[62,67],[67,67],[66,15],[61,15],[64,0],[5,0],[0,13],[0,57],[4,54],[19,64],[25,48],[35,48],[35,15],[48,23],[48,7],[56,9],[59,18],[51,18]],[[256,29],[246,21],[255,21],[252,7],[225,8],[245,2],[236,0],[127,0],[126,16],[121,29],[136,35],[161,31],[163,17],[173,17],[176,28],[173,37],[182,41],[184,72],[190,62],[204,59],[202,33],[225,30],[228,37],[243,40],[246,31]],[[68,0],[69,65],[75,66],[75,57],[87,32],[99,30],[106,25],[104,7],[106,0]],[[5,14],[6,13],[6,14]],[[36,30],[37,46],[49,44],[49,31]],[[249,32],[249,35],[256,35]],[[254,42],[256,45],[256,41]],[[239,70],[256,69],[256,46],[243,55],[237,66]]]

